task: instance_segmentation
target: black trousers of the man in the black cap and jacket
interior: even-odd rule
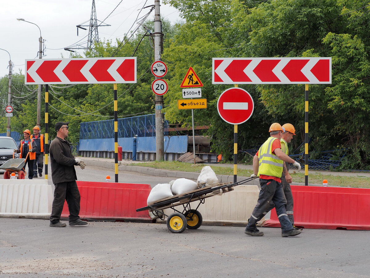
[[[76,181],[55,183],[54,186],[54,200],[51,208],[50,223],[55,224],[60,221],[64,200],[67,201],[70,212],[69,222],[79,219],[80,191],[78,191]]]

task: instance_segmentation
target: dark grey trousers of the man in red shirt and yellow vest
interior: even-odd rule
[[[292,222],[290,222],[285,210],[286,199],[281,183],[273,179],[259,179],[259,183],[261,185],[261,190],[259,192],[258,201],[249,218],[246,229],[250,231],[255,231],[257,229],[256,223],[258,219],[262,218],[261,216],[264,216],[266,212],[268,212],[272,201],[275,204],[276,214],[282,232],[292,230]]]

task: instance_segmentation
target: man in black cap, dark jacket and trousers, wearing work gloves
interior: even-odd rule
[[[70,226],[87,225],[87,221],[80,219],[80,192],[77,187],[77,176],[74,169],[79,165],[85,169],[86,164],[79,158],[74,158],[71,152],[70,144],[65,140],[68,136],[68,123],[57,122],[55,131],[57,137],[50,143],[49,154],[51,163],[51,179],[53,180],[54,200],[50,215],[51,227],[65,227],[65,223],[60,222],[64,200],[67,201]]]

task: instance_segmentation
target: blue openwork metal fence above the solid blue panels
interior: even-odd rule
[[[164,121],[164,129],[168,129],[168,121]],[[130,138],[154,137],[155,114],[118,119],[118,137]],[[168,131],[164,132],[168,135]],[[80,139],[114,138],[114,120],[101,120],[80,123]]]

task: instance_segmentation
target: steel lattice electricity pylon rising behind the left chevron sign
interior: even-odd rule
[[[100,22],[99,24],[98,24],[98,21]],[[88,22],[89,22],[88,25],[84,25]],[[65,47],[64,50],[74,52],[72,49],[86,49],[86,50],[94,49],[94,43],[99,42],[98,27],[100,27],[100,26],[110,26],[110,24],[102,24],[102,23],[103,23],[102,21],[100,21],[96,18],[95,0],[92,0],[90,20],[76,25],[76,27],[77,27],[77,36],[78,36],[78,29],[79,28],[83,29],[83,30],[87,30],[84,27],[89,27],[89,34],[88,34],[86,46],[84,46],[84,44],[85,44],[85,42],[84,42],[84,43],[81,43],[81,44],[76,44],[73,47]]]

